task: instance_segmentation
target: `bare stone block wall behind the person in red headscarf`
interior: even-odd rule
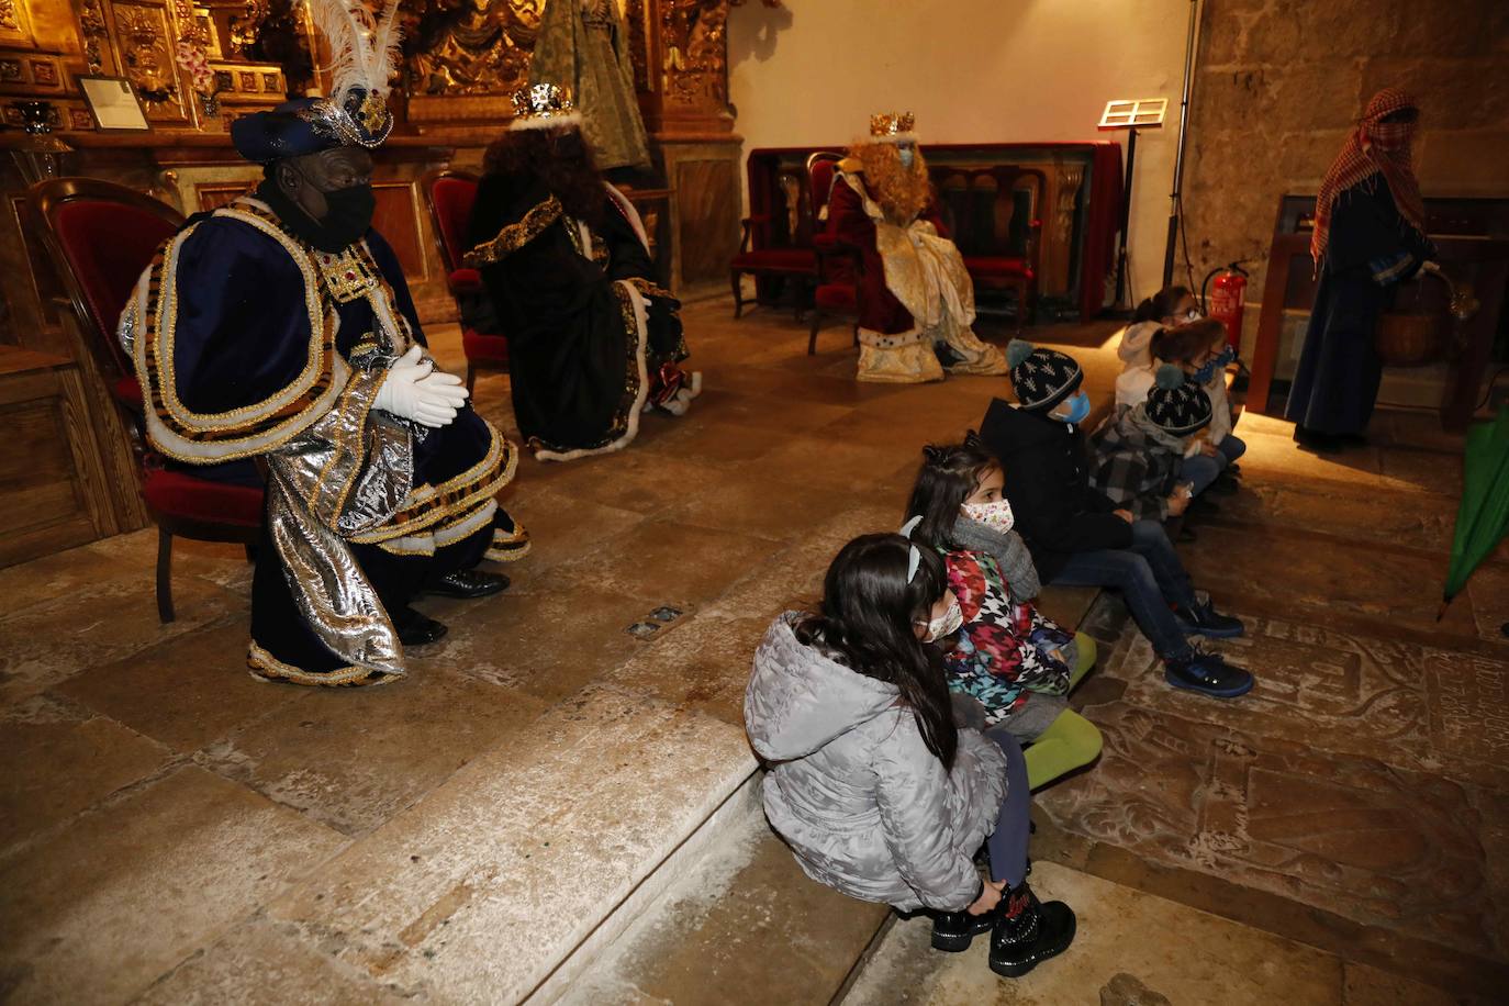
[[[1426,196],[1509,198],[1509,2],[1206,0],[1185,170],[1197,284],[1252,259],[1262,296],[1280,196],[1316,192],[1385,86],[1420,101]]]

